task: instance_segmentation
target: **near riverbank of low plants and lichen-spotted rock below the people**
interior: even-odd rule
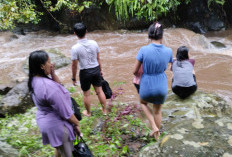
[[[81,97],[78,103],[83,110]],[[148,137],[149,125],[144,119],[141,121],[144,115],[139,105],[115,101],[109,107],[111,113],[103,117],[99,107],[93,106],[93,116],[81,121],[84,138],[95,156],[229,157],[232,154],[231,107],[215,94],[197,91],[182,100],[170,91],[162,110],[164,134],[158,141]],[[50,147],[42,146],[35,111],[32,108],[25,114],[0,119],[0,156],[3,152],[53,153]],[[9,149],[11,146],[14,149]]]

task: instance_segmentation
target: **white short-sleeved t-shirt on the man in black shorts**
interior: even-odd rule
[[[81,39],[72,47],[71,55],[72,60],[78,60],[79,69],[90,69],[97,67],[97,53],[99,53],[99,47],[96,41]]]

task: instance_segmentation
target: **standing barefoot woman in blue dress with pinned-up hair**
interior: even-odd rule
[[[158,22],[149,27],[148,37],[151,39],[151,43],[139,50],[134,75],[143,65],[139,90],[140,103],[152,127],[150,135],[157,139],[160,135],[159,129],[162,119],[161,105],[168,93],[165,70],[168,63],[172,63],[172,50],[162,45],[163,28]],[[153,103],[153,113],[147,106],[148,103]]]

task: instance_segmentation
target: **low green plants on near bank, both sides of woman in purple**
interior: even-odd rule
[[[72,87],[69,91],[76,92]],[[83,111],[82,95],[75,97],[75,100]],[[128,156],[130,153],[134,155],[142,148],[142,144],[155,142],[153,138],[148,137],[151,130],[139,118],[140,110],[136,105],[117,103],[111,106],[110,110],[109,115],[103,116],[100,104],[92,106],[92,116],[83,117],[80,121],[83,138],[95,156]],[[25,114],[13,117],[6,115],[6,118],[1,118],[0,138],[16,148],[19,156],[52,156],[54,149],[49,145],[42,145],[35,112],[34,107]],[[130,152],[134,144],[137,147]]]

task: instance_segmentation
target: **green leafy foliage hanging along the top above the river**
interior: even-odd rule
[[[85,8],[91,6],[101,7],[106,3],[115,10],[118,19],[128,19],[130,16],[153,20],[170,10],[175,10],[181,3],[189,3],[191,0],[0,0],[0,30],[11,29],[16,23],[35,23],[40,20],[43,12],[38,11],[38,6],[44,7],[52,15],[52,12],[63,8],[70,9],[81,14]],[[225,0],[208,0],[208,6],[212,3],[223,5]],[[54,17],[55,18],[55,17]]]

